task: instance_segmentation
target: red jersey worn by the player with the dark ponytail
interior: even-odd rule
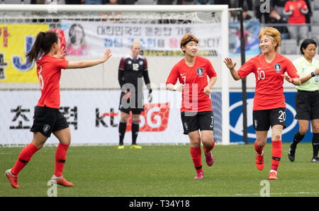
[[[40,82],[41,97],[38,106],[60,108],[61,69],[66,69],[69,61],[50,55],[37,60],[37,74]]]

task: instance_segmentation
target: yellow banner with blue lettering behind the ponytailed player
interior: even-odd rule
[[[28,64],[26,52],[47,24],[0,24],[0,82],[38,82],[35,62]]]

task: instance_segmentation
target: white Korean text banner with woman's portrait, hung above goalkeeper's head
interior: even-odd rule
[[[220,54],[220,23],[201,24],[140,24],[108,23],[92,21],[62,21],[67,41],[67,55],[101,56],[104,49],[111,48],[112,55],[128,54],[133,40],[142,42],[142,50],[181,51],[179,43],[186,33],[198,38],[199,50]],[[207,29],[211,33],[207,33]]]

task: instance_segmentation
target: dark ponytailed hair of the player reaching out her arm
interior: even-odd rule
[[[33,60],[38,59],[43,54],[47,54],[51,50],[51,46],[57,42],[57,33],[54,31],[40,32],[35,38],[35,42],[31,50],[26,53],[26,57],[29,63],[32,63]]]

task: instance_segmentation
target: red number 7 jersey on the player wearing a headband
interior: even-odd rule
[[[201,112],[213,110],[211,98],[203,93],[203,89],[208,85],[208,79],[216,76],[215,69],[208,59],[196,56],[193,67],[187,66],[184,58],[172,68],[166,84],[184,84],[182,91],[181,112],[193,111]]]

